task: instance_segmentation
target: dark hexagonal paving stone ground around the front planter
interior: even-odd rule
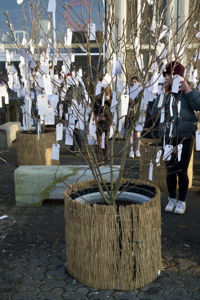
[[[1,157],[8,165],[0,161],[0,216],[8,217],[0,220],[0,300],[200,299],[199,152],[194,154],[194,186],[188,192],[186,213],[166,213],[167,193],[161,196],[161,274],[134,291],[95,290],[79,282],[74,285],[65,267],[63,202],[45,201],[41,208],[15,207],[16,142]],[[81,163],[80,158],[61,155],[61,164]],[[131,164],[133,160],[127,159],[127,166]]]

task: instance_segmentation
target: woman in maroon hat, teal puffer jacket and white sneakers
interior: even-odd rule
[[[174,75],[181,76],[181,86],[178,93],[166,91],[168,83],[173,82]],[[165,98],[163,103],[164,121],[159,126],[159,136],[162,137],[162,144],[172,145],[172,155],[170,160],[166,161],[167,176],[166,183],[169,191],[169,203],[166,205],[165,211],[174,211],[175,214],[183,214],[186,209],[185,198],[187,195],[189,179],[187,169],[190,162],[193,150],[193,136],[196,131],[195,122],[198,121],[195,111],[200,110],[200,93],[196,89],[191,89],[184,76],[184,67],[182,64],[172,61],[166,65],[166,70],[163,72],[166,83],[163,85]],[[171,85],[172,86],[172,85]],[[170,87],[170,86],[169,86]],[[172,113],[170,115],[170,98],[173,96]],[[151,115],[155,119],[161,107],[158,108],[160,95],[157,96]],[[180,111],[178,110],[178,101],[181,104]],[[172,126],[171,126],[172,124]],[[170,135],[170,127],[172,132]],[[182,143],[181,159],[178,161],[178,145]],[[178,175],[179,197],[176,200],[176,186]]]

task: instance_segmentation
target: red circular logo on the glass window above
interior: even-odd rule
[[[72,29],[76,29],[78,31],[81,31],[81,30],[84,29],[85,24],[89,24],[90,18],[88,18],[87,21],[85,23],[82,23],[82,24],[79,22],[79,19],[78,19],[77,15],[75,15],[74,18],[73,18],[73,12],[74,12],[73,7],[75,5],[79,5],[80,9],[83,9],[84,7],[86,7],[86,9],[88,11],[90,11],[91,4],[86,0],[81,0],[81,2],[80,2],[80,0],[72,0],[66,6],[64,18],[66,20],[67,25]],[[80,10],[80,16],[81,16],[81,11],[82,10]],[[92,11],[92,9],[91,9],[91,11]],[[75,22],[75,19],[77,19],[77,21],[79,22],[79,25]]]

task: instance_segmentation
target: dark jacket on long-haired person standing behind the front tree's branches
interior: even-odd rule
[[[104,100],[104,106],[102,106],[103,95],[104,95],[104,91],[102,91],[101,94],[95,97],[94,114],[98,115],[100,113],[104,113],[104,117],[106,119],[104,121],[98,122],[98,129],[107,131],[110,129],[110,126],[112,124],[112,118],[111,118],[112,113],[110,113],[109,111],[112,102],[112,95],[110,95],[109,100]]]

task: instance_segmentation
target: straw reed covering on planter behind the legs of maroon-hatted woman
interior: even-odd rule
[[[166,184],[166,167],[165,162],[162,160],[163,156],[160,157],[160,167],[155,163],[157,150],[161,150],[161,147],[153,146],[152,144],[140,144],[140,180],[149,181],[149,164],[152,159],[153,162],[153,184],[161,191],[167,191]],[[194,151],[193,151],[194,152]],[[187,170],[187,175],[189,177],[189,187],[192,186],[193,179],[193,152],[190,158],[190,164]],[[178,187],[178,186],[177,186]]]

